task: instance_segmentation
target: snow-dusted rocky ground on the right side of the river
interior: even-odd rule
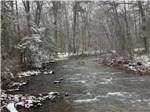
[[[134,55],[133,60],[115,57],[108,61],[109,65],[117,65],[139,74],[150,74],[150,54]]]

